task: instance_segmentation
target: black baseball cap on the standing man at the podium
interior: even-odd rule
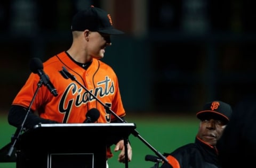
[[[91,5],[89,9],[78,11],[72,20],[72,31],[98,31],[108,35],[121,35],[124,32],[112,26],[113,22],[110,14],[106,11]]]

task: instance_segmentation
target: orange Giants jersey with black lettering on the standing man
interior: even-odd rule
[[[66,52],[51,57],[43,63],[44,72],[57,89],[58,96],[54,97],[46,86],[39,88],[31,110],[37,111],[44,119],[59,123],[83,123],[85,115],[91,108],[100,111],[98,123],[109,123],[116,120],[105,108],[83,89],[76,81],[65,79],[59,71],[65,68],[76,77],[93,95],[109,106],[118,116],[125,116],[125,110],[119,93],[118,80],[109,65],[93,59],[87,70],[77,65]],[[37,88],[39,75],[31,73],[13,100],[13,105],[28,107]]]

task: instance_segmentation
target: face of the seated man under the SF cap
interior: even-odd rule
[[[211,146],[215,146],[220,139],[226,122],[214,117],[205,117],[201,120],[197,137]]]

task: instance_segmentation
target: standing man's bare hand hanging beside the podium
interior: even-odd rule
[[[117,152],[118,150],[121,150],[121,153],[118,156],[118,161],[121,163],[125,163],[124,140],[120,140],[119,142],[117,142],[114,151]],[[128,154],[128,162],[130,162],[132,160],[132,147],[129,144],[129,142],[127,144],[127,154]]]

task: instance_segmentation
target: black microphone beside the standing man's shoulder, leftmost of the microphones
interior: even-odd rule
[[[50,92],[53,94],[53,96],[58,96],[57,90],[52,85],[50,78],[47,74],[44,73],[43,70],[43,63],[39,58],[32,58],[30,61],[30,70],[33,73],[37,73],[40,77],[40,79],[43,81],[44,86],[50,90]]]

